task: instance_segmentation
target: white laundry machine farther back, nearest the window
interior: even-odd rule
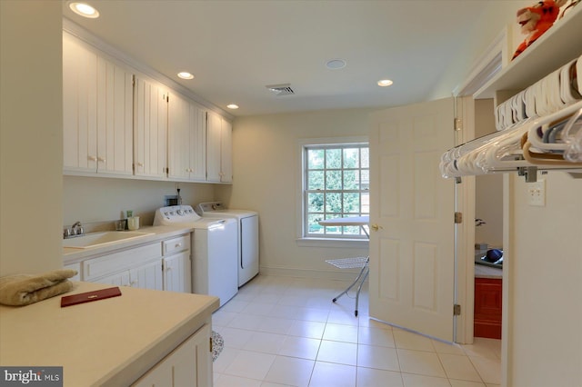
[[[234,218],[238,224],[238,286],[258,274],[258,213],[250,210],[229,210],[221,202],[196,205],[202,217]]]

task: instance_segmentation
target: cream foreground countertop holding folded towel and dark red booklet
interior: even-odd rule
[[[63,295],[111,287],[75,283]],[[121,386],[144,374],[218,309],[214,296],[120,287],[122,295],[61,308],[61,296],[0,305],[0,364],[63,366],[65,386]]]

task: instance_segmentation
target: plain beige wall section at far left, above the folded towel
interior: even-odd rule
[[[0,276],[63,263],[61,6],[0,1]]]

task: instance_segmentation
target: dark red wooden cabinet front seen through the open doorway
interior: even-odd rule
[[[500,278],[475,279],[475,337],[501,339],[501,300]]]

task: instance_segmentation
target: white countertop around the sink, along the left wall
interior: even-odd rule
[[[134,248],[142,244],[155,243],[157,241],[172,238],[173,236],[191,233],[193,230],[194,230],[193,228],[188,227],[185,224],[144,226],[140,227],[139,230],[137,231],[143,233],[152,233],[152,235],[146,235],[136,239],[120,241],[119,243],[112,243],[105,246],[91,247],[87,249],[63,248],[63,262],[64,264],[75,263],[78,261],[82,261],[86,258],[92,257],[94,255],[103,255],[105,253],[117,250]]]

